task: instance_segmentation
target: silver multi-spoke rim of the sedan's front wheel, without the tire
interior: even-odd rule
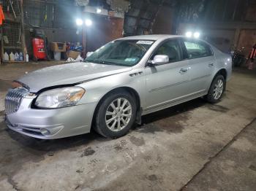
[[[126,98],[117,98],[108,106],[105,122],[110,130],[118,131],[127,126],[132,117],[132,105]]]

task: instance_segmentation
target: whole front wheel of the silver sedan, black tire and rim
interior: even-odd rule
[[[119,107],[118,101],[120,101]],[[126,102],[127,104],[124,105]],[[113,109],[113,106],[116,109]],[[136,104],[132,95],[124,90],[114,91],[106,95],[99,103],[95,115],[94,130],[106,138],[114,139],[124,136],[135,122],[136,111]]]

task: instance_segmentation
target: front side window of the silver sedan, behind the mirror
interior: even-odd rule
[[[155,55],[167,55],[169,57],[169,62],[181,61],[181,51],[179,49],[179,44],[177,40],[169,40],[164,42],[151,57],[151,60],[154,59]]]

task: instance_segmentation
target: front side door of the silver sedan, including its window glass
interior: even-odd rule
[[[151,56],[151,60],[154,55],[168,55],[169,63],[145,69],[147,109],[170,104],[189,94],[189,63],[183,60],[178,40],[163,42]]]

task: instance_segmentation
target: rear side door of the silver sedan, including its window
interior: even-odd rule
[[[197,39],[183,39],[184,51],[189,61],[189,91],[191,93],[207,92],[211,83],[216,61],[211,47]]]

